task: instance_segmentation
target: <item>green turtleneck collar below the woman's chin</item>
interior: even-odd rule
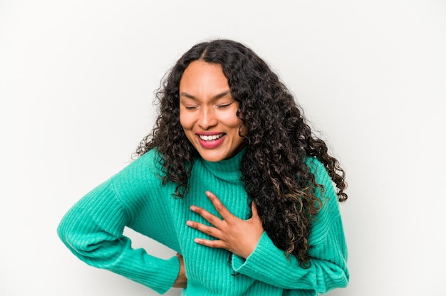
[[[240,162],[246,151],[246,148],[242,149],[239,153],[235,154],[229,159],[223,159],[219,162],[208,162],[201,157],[197,159],[197,162],[201,162],[205,169],[219,179],[230,183],[239,183],[240,177]]]

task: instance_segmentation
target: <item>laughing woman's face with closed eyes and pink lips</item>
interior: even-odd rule
[[[190,63],[180,80],[180,123],[203,159],[219,162],[243,148],[238,107],[221,65]]]

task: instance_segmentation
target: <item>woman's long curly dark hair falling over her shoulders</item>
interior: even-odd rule
[[[157,91],[160,102],[155,127],[138,147],[142,155],[156,148],[162,154],[163,183],[176,184],[175,196],[187,193],[187,181],[198,157],[180,125],[180,79],[192,61],[222,65],[237,117],[248,127],[240,169],[247,194],[256,205],[264,230],[285,254],[308,267],[308,235],[322,201],[306,159],[316,157],[336,184],[338,201],[346,201],[345,174],[327,145],[306,123],[301,108],[269,66],[251,49],[230,40],[193,46],[177,61]]]

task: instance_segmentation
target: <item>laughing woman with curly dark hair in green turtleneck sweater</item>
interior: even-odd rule
[[[157,97],[160,114],[138,159],[61,221],[68,248],[159,293],[317,295],[345,287],[343,170],[268,65],[234,41],[199,43]],[[134,250],[125,226],[177,255]]]

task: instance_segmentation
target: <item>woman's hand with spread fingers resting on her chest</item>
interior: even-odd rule
[[[248,258],[255,250],[261,234],[264,232],[261,220],[257,215],[256,206],[252,203],[252,217],[248,220],[242,220],[234,216],[212,192],[206,191],[206,195],[212,201],[223,220],[203,208],[191,206],[190,209],[192,211],[202,216],[214,227],[194,221],[187,221],[187,226],[217,238],[217,240],[195,238],[195,243],[206,245],[210,248],[226,249],[239,257]]]

